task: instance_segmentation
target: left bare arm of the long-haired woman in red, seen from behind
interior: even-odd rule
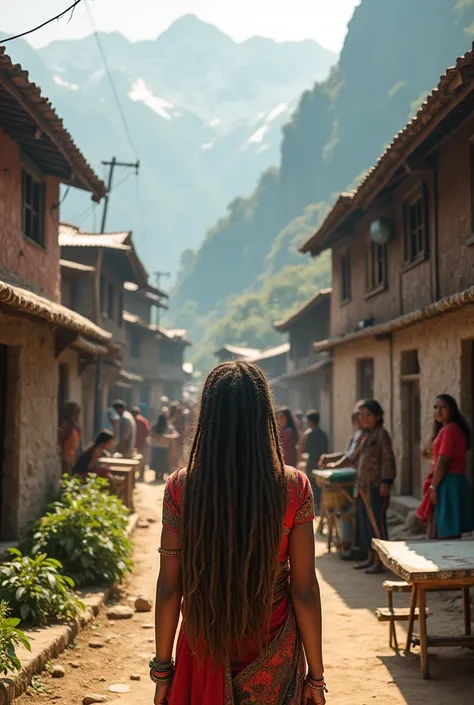
[[[161,548],[168,551],[180,551],[180,534],[163,528]],[[173,653],[182,597],[181,557],[161,555],[156,588],[155,641],[156,658],[162,663],[169,661]]]

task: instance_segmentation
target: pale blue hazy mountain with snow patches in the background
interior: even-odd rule
[[[8,51],[99,173],[102,160],[138,155],[135,185],[133,172],[117,171],[108,227],[135,230],[150,271],[175,271],[180,253],[202,241],[226,204],[279,162],[282,125],[337,57],[313,41],[236,43],[192,15],[156,41],[117,33],[100,40],[133,150],[94,36],[36,52],[18,42]],[[62,208],[81,227],[100,222],[82,194],[71,192]]]

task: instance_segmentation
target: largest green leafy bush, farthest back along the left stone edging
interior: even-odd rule
[[[37,522],[30,540],[33,555],[47,553],[64,566],[76,585],[110,585],[131,569],[128,510],[108,494],[108,483],[91,477],[63,478],[59,499]]]

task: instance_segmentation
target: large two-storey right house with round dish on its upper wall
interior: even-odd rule
[[[302,247],[314,256],[332,250],[330,335],[315,349],[333,359],[334,445],[347,444],[354,402],[377,398],[406,507],[429,469],[420,448],[435,395],[452,394],[472,426],[473,233],[470,51]]]

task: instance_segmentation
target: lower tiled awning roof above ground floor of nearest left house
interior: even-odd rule
[[[0,281],[0,307],[22,311],[30,316],[41,318],[55,326],[76,331],[99,342],[107,343],[112,338],[110,333],[102,330],[102,328],[99,328],[99,326],[80,316],[75,311],[71,311],[65,306],[50,301],[43,296],[38,296],[32,291],[7,284],[4,281]]]

